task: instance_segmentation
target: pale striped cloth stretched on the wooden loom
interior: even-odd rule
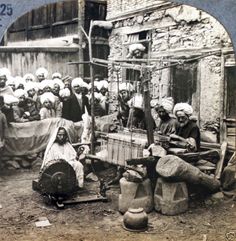
[[[119,132],[107,134],[102,140],[101,150],[107,150],[107,162],[126,166],[126,160],[143,156],[147,135],[142,133]]]

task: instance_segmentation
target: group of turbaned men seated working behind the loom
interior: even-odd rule
[[[144,103],[141,94],[132,94],[133,86],[123,84],[119,94],[118,119],[123,127],[146,129]],[[188,151],[198,151],[200,148],[200,130],[193,115],[193,108],[188,103],[177,103],[173,99],[163,98],[153,106],[153,131],[169,136],[185,143]]]

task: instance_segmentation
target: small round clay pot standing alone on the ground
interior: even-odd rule
[[[148,227],[148,216],[143,208],[129,208],[123,218],[124,228],[129,231],[145,231]]]

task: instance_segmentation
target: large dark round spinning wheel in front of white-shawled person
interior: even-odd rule
[[[73,167],[65,160],[49,161],[39,175],[39,188],[43,194],[67,196],[77,187]]]

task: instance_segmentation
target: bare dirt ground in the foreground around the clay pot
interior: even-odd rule
[[[77,204],[58,210],[46,205],[32,190],[32,180],[37,176],[38,169],[1,174],[0,241],[236,240],[233,200],[192,200],[189,210],[178,216],[153,211],[148,215],[148,231],[134,233],[122,228],[118,185],[107,192],[107,203]],[[98,183],[87,183],[85,188],[94,192],[97,187]],[[37,228],[35,222],[40,217],[47,217],[51,226]]]

